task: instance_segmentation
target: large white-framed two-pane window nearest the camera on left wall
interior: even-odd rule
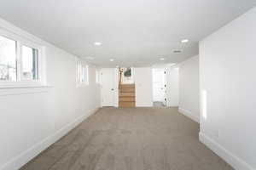
[[[0,30],[0,88],[40,85],[40,59],[40,47]]]

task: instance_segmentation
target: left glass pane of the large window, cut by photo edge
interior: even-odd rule
[[[0,81],[16,81],[16,42],[0,36]]]

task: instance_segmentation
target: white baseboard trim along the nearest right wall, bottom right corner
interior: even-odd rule
[[[199,140],[236,170],[255,170],[252,166],[247,164],[247,162],[241,160],[241,158],[235,156],[229,150],[226,150],[222,145],[218,144],[206,134],[199,133]]]

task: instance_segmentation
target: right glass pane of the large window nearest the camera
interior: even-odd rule
[[[22,46],[22,78],[38,79],[38,49]]]

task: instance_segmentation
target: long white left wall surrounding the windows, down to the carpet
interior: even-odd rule
[[[14,170],[100,106],[96,66],[90,85],[76,88],[76,57],[0,19],[0,27],[45,47],[50,87],[0,89],[0,169]]]

